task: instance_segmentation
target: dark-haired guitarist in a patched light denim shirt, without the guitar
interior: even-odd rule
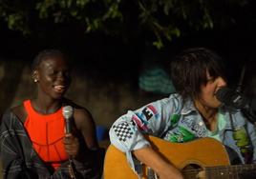
[[[136,170],[139,168],[135,167],[133,153],[162,179],[183,177],[180,169],[151,148],[143,134],[173,143],[213,137],[236,152],[242,164],[256,162],[255,127],[240,110],[224,109],[216,97],[216,92],[226,86],[223,71],[222,59],[214,51],[184,50],[171,63],[177,93],[129,110],[117,119],[110,129],[110,140],[126,153],[132,169],[141,174]]]

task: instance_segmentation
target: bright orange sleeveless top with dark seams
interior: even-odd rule
[[[24,126],[41,159],[57,169],[61,162],[68,160],[62,139],[64,137],[64,117],[62,108],[52,114],[40,114],[32,108],[31,100],[24,101],[28,116]]]

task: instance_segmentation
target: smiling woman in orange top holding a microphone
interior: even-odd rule
[[[4,178],[99,178],[93,117],[64,98],[71,83],[67,56],[59,50],[39,52],[32,62],[32,80],[36,96],[3,115]],[[65,106],[73,110],[70,132],[65,131]]]

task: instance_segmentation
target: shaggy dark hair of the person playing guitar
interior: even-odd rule
[[[213,78],[221,76],[225,80],[223,59],[213,50],[183,50],[171,62],[171,79],[183,100],[200,96],[201,86],[207,82],[206,71]]]

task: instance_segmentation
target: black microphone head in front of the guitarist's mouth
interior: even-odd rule
[[[226,107],[233,109],[245,109],[247,100],[240,92],[226,87],[217,90],[216,98]]]

